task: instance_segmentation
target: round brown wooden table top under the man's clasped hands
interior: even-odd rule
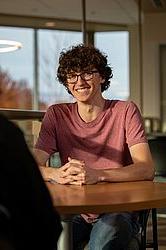
[[[95,185],[47,183],[60,214],[108,213],[166,207],[166,183],[137,181]]]

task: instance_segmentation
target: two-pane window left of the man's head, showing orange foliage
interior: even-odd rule
[[[1,108],[36,109],[33,106],[34,89],[39,93],[36,102],[41,110],[53,103],[73,100],[58,83],[56,71],[62,49],[80,43],[82,33],[42,29],[36,32],[37,53],[34,51],[34,29],[0,27],[1,38],[23,44],[20,50],[0,54]],[[35,65],[36,61],[38,65]]]

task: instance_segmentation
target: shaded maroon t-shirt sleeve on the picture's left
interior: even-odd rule
[[[42,120],[41,129],[35,148],[43,150],[49,155],[57,152],[56,114],[52,106],[48,108]]]

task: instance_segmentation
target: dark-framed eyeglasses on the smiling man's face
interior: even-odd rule
[[[79,76],[84,81],[90,81],[91,79],[93,79],[94,73],[97,73],[97,72],[98,72],[97,70],[93,70],[93,71],[89,71],[89,72],[83,72],[83,73],[81,73],[79,75],[74,74],[74,73],[73,74],[70,73],[70,74],[67,75],[67,82],[69,84],[74,84],[74,83],[76,83],[78,81]]]

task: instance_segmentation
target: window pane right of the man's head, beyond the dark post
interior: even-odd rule
[[[95,46],[108,55],[113,78],[104,96],[108,99],[129,98],[129,34],[127,31],[96,32]]]

